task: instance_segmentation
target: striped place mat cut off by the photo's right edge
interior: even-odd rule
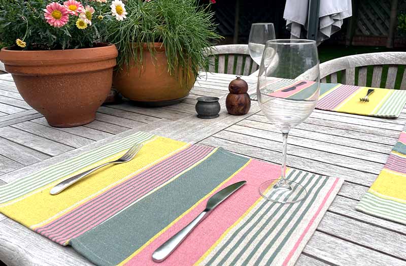
[[[406,126],[358,211],[406,224]]]

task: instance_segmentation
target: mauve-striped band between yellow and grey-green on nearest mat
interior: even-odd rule
[[[212,150],[212,147],[192,145],[123,183],[117,184],[55,221],[36,228],[36,231],[63,245],[69,239],[82,235],[155,187],[181,173],[207,156]]]

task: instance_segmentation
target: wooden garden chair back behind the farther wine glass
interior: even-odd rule
[[[218,45],[208,50],[211,73],[249,76],[259,68],[251,59],[247,44]]]

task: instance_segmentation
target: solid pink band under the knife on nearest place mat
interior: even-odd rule
[[[279,178],[280,166],[252,160],[238,174],[228,180],[220,189],[242,180],[246,180],[242,188],[220,204],[198,227],[193,230],[184,242],[159,266],[193,265],[209,250],[222,234],[233,225],[260,198],[259,185],[268,179]],[[151,255],[166,240],[186,226],[206,207],[210,197],[201,202],[193,210],[178,220],[158,238],[153,240],[140,253],[128,260],[125,265],[149,266],[157,265]],[[134,250],[135,251],[135,250]],[[180,261],[182,263],[180,263]]]

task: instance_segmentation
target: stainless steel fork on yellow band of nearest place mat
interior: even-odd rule
[[[119,159],[117,159],[115,161],[103,163],[103,164],[99,165],[98,167],[92,168],[79,175],[76,175],[74,177],[70,177],[68,179],[63,180],[62,182],[60,182],[59,184],[54,186],[49,193],[51,195],[56,195],[59,192],[61,192],[62,190],[64,190],[65,188],[75,184],[76,182],[78,182],[79,180],[84,178],[85,176],[89,175],[90,173],[93,173],[97,169],[105,167],[106,165],[109,165],[112,163],[114,163],[114,164],[115,163],[124,163],[124,162],[132,160],[137,155],[137,153],[141,150],[142,146],[143,146],[142,144],[136,144],[136,145],[132,146],[123,156],[121,156]]]

